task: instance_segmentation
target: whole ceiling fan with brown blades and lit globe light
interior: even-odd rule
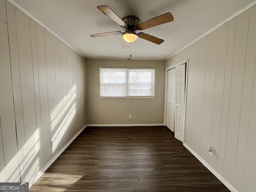
[[[152,18],[148,21],[140,23],[140,19],[136,16],[130,15],[130,16],[125,16],[124,18],[121,19],[108,6],[102,5],[102,6],[97,6],[97,8],[101,10],[104,14],[109,16],[112,20],[114,20],[114,22],[116,22],[118,25],[120,25],[124,29],[124,32],[114,31],[114,32],[93,34],[90,36],[101,37],[101,36],[107,36],[107,35],[122,34],[122,37],[124,38],[123,49],[129,48],[130,43],[134,42],[138,37],[158,45],[161,44],[162,42],[164,42],[164,40],[151,36],[146,33],[142,33],[142,32],[136,33],[136,31],[148,29],[150,27],[158,26],[174,20],[171,13],[166,13],[166,14],[157,16],[155,18]]]

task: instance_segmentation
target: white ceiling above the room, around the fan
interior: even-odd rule
[[[10,0],[20,5],[86,58],[166,59],[214,28],[254,0]],[[120,18],[137,16],[141,22],[172,13],[173,22],[141,32],[164,40],[160,45],[142,38],[122,49],[121,34],[90,37],[90,34],[123,31],[100,10],[107,5]],[[137,31],[138,32],[138,31]]]

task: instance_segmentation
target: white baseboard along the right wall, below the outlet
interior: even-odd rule
[[[186,147],[190,153],[192,153],[216,178],[218,178],[230,191],[238,192],[226,179],[224,179],[216,170],[214,170],[207,162],[205,162],[196,152],[194,152],[186,143],[183,143],[183,146]]]

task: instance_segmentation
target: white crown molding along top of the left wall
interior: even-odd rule
[[[40,24],[43,28],[45,28],[46,30],[48,30],[50,33],[52,33],[54,36],[56,36],[59,40],[61,40],[62,42],[64,42],[66,45],[70,46],[70,48],[72,48],[73,50],[75,50],[78,54],[80,54],[82,57],[84,57],[84,55],[82,53],[80,53],[78,50],[76,50],[73,46],[71,46],[70,44],[68,44],[68,42],[66,42],[64,39],[62,39],[60,36],[58,36],[56,33],[54,33],[52,30],[50,30],[50,28],[48,28],[46,25],[44,25],[42,22],[40,22],[35,16],[33,16],[31,13],[29,13],[28,11],[26,11],[22,6],[20,6],[17,2],[15,2],[14,0],[7,0],[8,2],[10,2],[11,4],[13,4],[16,8],[18,8],[19,10],[21,10],[22,12],[24,12],[24,14],[26,14],[27,16],[29,16],[30,18],[32,18],[35,22],[37,22],[38,24]]]

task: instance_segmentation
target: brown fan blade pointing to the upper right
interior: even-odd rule
[[[138,28],[140,30],[144,30],[144,29],[147,29],[147,28],[150,28],[150,27],[154,27],[154,26],[158,26],[158,25],[161,25],[161,24],[164,24],[164,23],[171,22],[173,20],[174,20],[174,18],[172,16],[172,14],[171,13],[166,13],[166,14],[160,15],[158,17],[152,18],[148,21],[145,21],[141,24],[138,24]]]

